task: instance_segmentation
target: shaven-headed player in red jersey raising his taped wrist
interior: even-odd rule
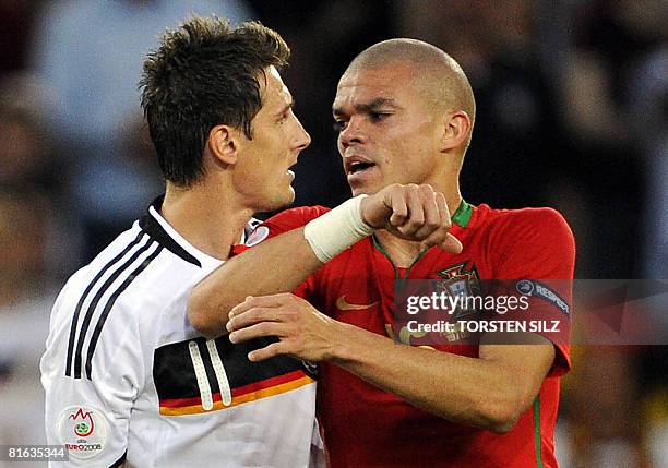
[[[550,283],[573,277],[568,224],[549,208],[463,200],[475,101],[460,65],[433,46],[392,39],[361,52],[338,83],[333,113],[357,211],[306,207],[269,219],[251,238],[258,247],[194,289],[191,322],[210,336],[227,326],[232,343],[278,337],[251,352],[253,361],[290,355],[320,363],[319,420],[332,467],[557,466],[568,331],[560,339],[490,332],[475,345],[455,336],[425,347],[420,334],[393,327],[393,302],[396,279],[465,288],[517,280],[523,293],[540,288],[532,314],[568,326],[570,288]],[[406,239],[427,229],[422,242]],[[354,233],[361,240],[347,249],[333,240]],[[440,247],[429,247],[434,236]],[[295,289],[310,303],[278,293]]]

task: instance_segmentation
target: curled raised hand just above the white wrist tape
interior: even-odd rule
[[[365,221],[374,229],[386,229],[407,240],[421,241],[422,248],[440,245],[462,252],[462,243],[449,231],[452,227],[445,196],[431,185],[394,183],[369,195],[361,203]]]

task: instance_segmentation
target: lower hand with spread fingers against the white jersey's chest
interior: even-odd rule
[[[277,336],[279,341],[248,355],[262,361],[290,355],[307,361],[322,361],[334,356],[343,344],[346,325],[320,313],[309,302],[291,293],[249,297],[229,313],[227,329],[231,343],[261,336]]]

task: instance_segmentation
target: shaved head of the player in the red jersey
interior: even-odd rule
[[[332,104],[353,193],[428,183],[456,209],[475,113],[466,75],[438,47],[415,39],[369,47],[341,77]]]

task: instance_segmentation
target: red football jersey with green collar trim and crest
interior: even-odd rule
[[[323,207],[294,208],[270,218],[263,226],[272,237],[302,226],[325,212]],[[395,279],[573,277],[573,235],[553,209],[491,209],[463,202],[453,220],[451,232],[464,245],[458,255],[432,248],[410,268],[396,268],[370,237],[325,264],[296,292],[333,319],[396,337],[391,327]],[[571,291],[563,289],[570,288],[559,291],[570,303]],[[534,302],[533,307],[542,308],[547,316],[562,319],[570,311],[564,313],[546,300]],[[569,333],[565,338],[562,333],[558,340],[552,334],[542,334],[554,343],[554,363],[535,403],[506,434],[450,422],[336,365],[320,363],[318,411],[330,466],[556,467],[553,431],[559,377],[570,368]],[[420,345],[418,336],[402,334],[403,343]],[[478,356],[475,345],[432,347],[443,352]]]

